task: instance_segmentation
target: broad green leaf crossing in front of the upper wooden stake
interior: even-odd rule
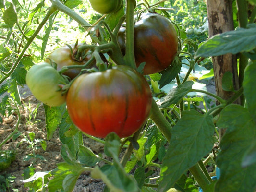
[[[226,53],[248,52],[256,47],[256,25],[251,28],[238,28],[217,34],[203,43],[195,53],[196,57],[219,56]]]

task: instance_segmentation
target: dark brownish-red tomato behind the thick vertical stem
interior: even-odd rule
[[[125,30],[118,43],[125,53]],[[144,75],[160,72],[171,65],[178,51],[178,36],[171,21],[159,14],[147,14],[134,25],[134,54],[137,67],[146,62]]]

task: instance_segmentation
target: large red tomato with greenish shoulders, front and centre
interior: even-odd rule
[[[73,123],[83,132],[104,138],[110,132],[127,137],[146,121],[152,102],[146,79],[127,66],[82,74],[67,94]]]

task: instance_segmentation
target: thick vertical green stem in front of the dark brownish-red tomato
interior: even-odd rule
[[[137,69],[134,57],[134,0],[126,0],[126,48],[124,60],[126,65]]]

